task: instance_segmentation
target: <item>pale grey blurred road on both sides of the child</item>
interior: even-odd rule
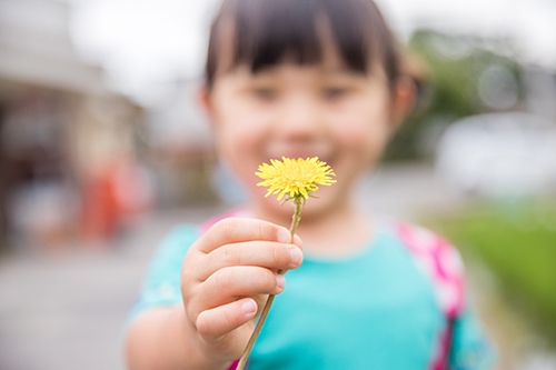
[[[424,164],[366,177],[358,202],[401,218],[459,202]],[[0,259],[0,369],[123,369],[121,328],[158,241],[216,209],[150,214],[109,248],[71,246]]]

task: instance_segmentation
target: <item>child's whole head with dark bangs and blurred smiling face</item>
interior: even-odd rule
[[[337,174],[307,202],[304,224],[351,211],[354,180],[376,164],[411,100],[399,99],[400,58],[379,10],[359,0],[228,4],[211,27],[202,99],[220,158],[259,217],[291,216],[255,176],[281,157],[319,157]]]

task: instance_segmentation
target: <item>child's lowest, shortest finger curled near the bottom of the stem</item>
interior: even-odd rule
[[[202,311],[197,317],[197,331],[209,342],[220,340],[230,331],[239,328],[257,313],[257,303],[251,298]]]

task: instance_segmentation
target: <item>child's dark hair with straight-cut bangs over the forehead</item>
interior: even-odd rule
[[[373,0],[225,0],[209,38],[206,84],[225,64],[256,73],[285,61],[315,64],[324,59],[317,18],[327,21],[345,67],[368,73],[379,62],[389,82],[399,74],[395,39]]]

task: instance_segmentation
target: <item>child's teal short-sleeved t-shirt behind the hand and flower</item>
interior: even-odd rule
[[[130,318],[181,302],[185,254],[196,226],[175,228],[161,243]],[[368,248],[342,260],[305,256],[286,276],[251,351],[250,370],[431,369],[447,319],[431,282],[380,222]],[[454,326],[453,369],[490,369],[495,351],[466,304]]]

